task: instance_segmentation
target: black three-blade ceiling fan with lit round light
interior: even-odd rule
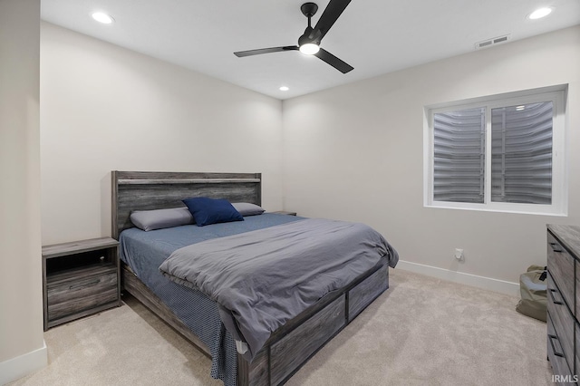
[[[350,64],[344,63],[332,53],[320,48],[320,42],[325,34],[336,22],[338,17],[343,13],[344,8],[351,3],[351,0],[331,0],[320,16],[318,23],[314,28],[310,24],[310,19],[318,10],[318,5],[314,3],[304,3],[300,10],[308,18],[308,26],[304,30],[304,34],[298,38],[298,45],[286,45],[283,47],[261,48],[258,50],[238,51],[234,53],[237,57],[245,57],[252,55],[259,55],[262,53],[281,53],[284,51],[300,51],[301,53],[314,55],[324,62],[332,65],[336,70],[346,73],[352,71],[354,68]]]

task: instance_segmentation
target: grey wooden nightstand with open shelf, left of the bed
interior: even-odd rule
[[[121,305],[118,246],[111,237],[43,246],[44,331]]]

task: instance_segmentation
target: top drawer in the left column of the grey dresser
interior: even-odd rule
[[[547,233],[547,270],[556,282],[565,303],[574,311],[575,307],[575,259],[551,233]],[[556,327],[557,328],[557,327]]]

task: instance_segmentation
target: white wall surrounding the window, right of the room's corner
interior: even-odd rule
[[[423,207],[423,106],[561,83],[568,217]],[[517,282],[528,265],[546,264],[546,223],[580,223],[578,106],[578,26],[284,101],[285,209],[372,225],[413,263],[405,268]]]

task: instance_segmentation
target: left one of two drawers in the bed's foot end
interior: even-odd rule
[[[270,382],[277,385],[346,324],[344,296],[314,314],[270,348]],[[313,338],[314,337],[314,338]]]

